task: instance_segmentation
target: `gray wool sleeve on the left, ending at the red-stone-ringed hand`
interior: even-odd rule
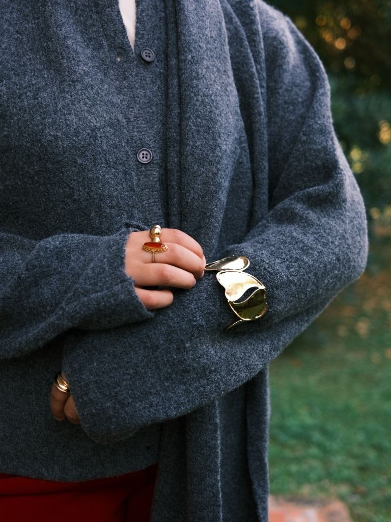
[[[125,272],[131,232],[40,241],[0,232],[0,358],[28,353],[72,327],[112,328],[152,317]]]

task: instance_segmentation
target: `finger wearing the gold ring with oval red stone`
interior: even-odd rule
[[[168,246],[168,250],[165,252],[155,253],[156,263],[166,263],[173,265],[178,268],[182,268],[187,272],[191,272],[196,279],[200,279],[202,272],[204,271],[205,264],[203,259],[200,259],[197,254],[194,254],[191,250],[185,246],[178,245],[177,243],[165,243]],[[145,264],[151,263],[151,253],[143,251],[142,261]]]

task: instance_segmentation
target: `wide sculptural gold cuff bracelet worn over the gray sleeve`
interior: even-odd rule
[[[260,319],[267,312],[266,288],[256,277],[247,274],[250,261],[245,256],[223,257],[208,263],[205,270],[216,271],[217,281],[224,287],[230,309],[238,317],[226,330],[247,321]],[[248,298],[239,301],[249,290],[254,289]]]

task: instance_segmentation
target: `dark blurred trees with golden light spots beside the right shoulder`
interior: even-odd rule
[[[326,67],[336,132],[381,235],[391,231],[391,0],[272,0]]]

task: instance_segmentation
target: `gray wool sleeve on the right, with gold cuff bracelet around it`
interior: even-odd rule
[[[224,332],[235,316],[206,274],[153,322],[70,333],[63,370],[96,441],[181,416],[249,381],[365,268],[365,209],[334,133],[324,69],[296,28],[273,16],[264,33],[270,210],[218,253],[250,258],[268,312]]]

